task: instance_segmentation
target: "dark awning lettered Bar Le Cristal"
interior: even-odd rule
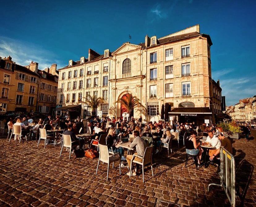
[[[207,107],[173,108],[169,112],[170,116],[211,116],[211,114],[211,110]]]

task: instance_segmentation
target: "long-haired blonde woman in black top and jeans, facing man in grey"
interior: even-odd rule
[[[121,160],[125,161],[126,158],[124,157],[124,149],[122,147],[116,147],[116,143],[117,143],[117,135],[115,133],[115,129],[110,128],[107,136],[108,149],[110,152],[113,151],[113,153],[119,152],[119,154],[122,156]]]

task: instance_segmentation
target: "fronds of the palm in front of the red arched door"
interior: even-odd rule
[[[134,108],[137,108],[137,110],[144,112],[146,108],[140,103],[140,99],[137,98],[137,96],[133,96],[132,94],[127,94],[126,99],[118,99],[116,103],[121,103],[121,105],[126,108],[127,113],[131,113]]]

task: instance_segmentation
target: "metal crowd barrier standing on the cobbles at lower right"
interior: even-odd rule
[[[232,207],[236,206],[236,168],[235,158],[224,147],[220,147],[220,184],[210,183],[223,187]]]

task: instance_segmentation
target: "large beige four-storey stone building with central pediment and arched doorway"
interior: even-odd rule
[[[169,103],[170,115],[177,120],[215,122],[212,115],[221,114],[221,88],[219,81],[211,78],[211,45],[210,36],[200,33],[196,25],[160,38],[146,36],[141,44],[126,42],[112,53],[105,50],[100,55],[89,49],[88,59],[70,60],[69,65],[59,70],[58,107],[81,106],[81,115],[85,116],[90,109],[80,104],[78,97],[83,101],[88,93],[96,93],[106,100],[98,108],[103,115],[122,116],[126,111],[116,101],[132,94],[147,109],[145,114],[134,109],[134,117],[142,115],[147,120],[159,120],[162,104]],[[74,78],[76,70],[85,73]],[[62,77],[65,78],[62,80]],[[67,90],[68,82],[73,87],[78,81],[83,81],[82,89]],[[71,96],[75,99],[70,99]]]

